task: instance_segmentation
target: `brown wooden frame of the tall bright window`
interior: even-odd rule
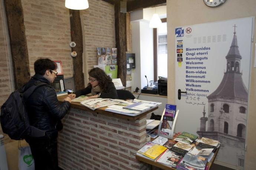
[[[167,23],[167,18],[161,19],[162,23]],[[153,28],[153,55],[154,55],[154,81],[157,81],[157,49],[158,49],[157,28]]]

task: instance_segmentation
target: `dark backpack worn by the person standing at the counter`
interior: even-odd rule
[[[26,86],[24,85],[21,89],[12,92],[6,102],[1,106],[0,123],[2,130],[11,139],[20,140],[26,137],[45,136],[45,131],[30,125],[24,101],[24,96],[29,98],[36,88],[43,85],[48,84],[36,82],[26,91],[24,91]]]

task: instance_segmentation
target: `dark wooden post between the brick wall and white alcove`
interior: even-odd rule
[[[120,12],[120,2],[115,3],[115,41],[117,48],[117,77],[126,86],[126,23],[125,14]]]

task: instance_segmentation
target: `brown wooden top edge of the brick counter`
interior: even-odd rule
[[[58,96],[57,98],[58,98],[59,102],[63,102],[63,99],[66,96],[67,95],[62,95],[62,96]],[[155,107],[155,108],[152,108],[150,110],[147,110],[146,112],[142,112],[140,115],[137,115],[137,116],[122,115],[122,114],[119,114],[119,113],[105,111],[105,109],[107,107],[91,110],[91,109],[81,105],[78,102],[71,102],[71,108],[81,109],[81,110],[85,110],[85,111],[88,111],[88,112],[92,112],[92,113],[96,113],[96,114],[101,114],[101,115],[106,115],[106,116],[112,116],[112,117],[115,117],[115,118],[137,120],[137,119],[141,118],[142,116],[147,115],[147,113],[150,113],[150,112],[158,109],[158,106]]]

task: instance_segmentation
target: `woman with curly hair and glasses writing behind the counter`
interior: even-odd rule
[[[92,93],[92,96],[89,98],[118,99],[118,95],[112,79],[100,68],[91,69],[89,71],[88,86],[75,92],[75,94],[69,94],[69,97],[74,99],[76,96],[78,97],[81,95],[87,95],[89,93]]]

